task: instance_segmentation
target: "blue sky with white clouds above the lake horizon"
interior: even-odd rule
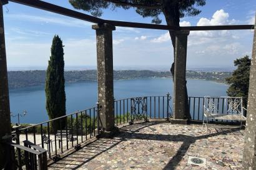
[[[67,0],[50,1],[74,9]],[[96,68],[96,32],[92,23],[9,2],[4,6],[7,67],[46,69],[51,42],[59,35],[64,46],[65,68]],[[180,26],[254,24],[255,0],[206,0],[202,12],[180,19]],[[74,9],[75,10],[75,9]],[[79,10],[76,10],[79,11]],[[89,14],[85,11],[79,11]],[[102,19],[150,23],[133,8],[104,10]],[[166,24],[164,16],[162,24]],[[234,60],[252,55],[252,30],[190,31],[187,68],[232,68]],[[113,31],[114,68],[169,69],[173,48],[167,31],[116,27]]]

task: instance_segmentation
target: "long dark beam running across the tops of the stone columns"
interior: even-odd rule
[[[39,1],[39,0],[9,0],[11,2],[16,2],[18,4],[23,4],[26,6],[36,7],[38,9],[43,9],[45,11],[54,12],[56,14],[61,14],[64,16],[73,17],[76,19],[81,19],[83,21],[92,22],[95,24],[111,24],[112,26],[118,27],[134,27],[141,29],[158,29],[158,30],[189,30],[189,31],[213,31],[213,30],[239,30],[239,29],[254,29],[254,25],[232,25],[232,26],[191,26],[191,27],[173,27],[167,25],[159,24],[145,24],[138,22],[126,22],[126,21],[112,21],[100,19],[98,17],[90,16],[82,12],[77,12],[72,9],[67,9],[65,7],[57,6],[49,2]]]

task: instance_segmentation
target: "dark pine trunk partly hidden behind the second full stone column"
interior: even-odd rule
[[[172,2],[171,0],[163,0],[163,13],[165,16],[165,21],[168,26],[175,26],[177,28],[180,27],[180,16],[179,16],[179,6],[177,2]],[[170,39],[172,40],[172,47],[175,49],[175,32],[174,31],[169,31],[170,34]],[[174,50],[175,53],[175,50]],[[175,56],[175,55],[174,55]],[[174,59],[175,60],[175,59]],[[174,62],[172,63],[172,66],[170,67],[170,72],[172,73],[172,78],[174,78]],[[174,79],[173,79],[174,80]],[[185,103],[186,105],[186,118],[190,119],[190,109],[189,109],[189,100],[188,100],[188,95],[187,95],[187,85],[185,87],[185,93],[186,93],[186,98],[185,98]]]

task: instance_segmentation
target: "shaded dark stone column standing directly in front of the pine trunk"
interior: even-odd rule
[[[176,31],[174,61],[174,119],[185,118],[187,35],[189,31]]]

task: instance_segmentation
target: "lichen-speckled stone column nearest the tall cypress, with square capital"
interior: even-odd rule
[[[97,80],[100,126],[106,131],[114,128],[114,85],[113,85],[113,47],[110,24],[94,25],[97,40]]]

